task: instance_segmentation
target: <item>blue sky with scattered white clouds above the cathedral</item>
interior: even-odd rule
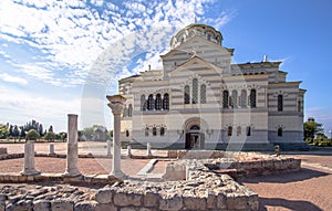
[[[234,63],[282,61],[307,89],[304,118],[328,133],[331,11],[329,0],[1,0],[0,124],[35,119],[60,133],[77,114],[80,128],[112,127],[105,95],[148,64],[162,68],[172,36],[196,17],[221,32]]]

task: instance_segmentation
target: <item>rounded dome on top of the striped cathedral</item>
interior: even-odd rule
[[[190,24],[185,29],[181,29],[175,36],[172,38],[170,49],[175,49],[181,43],[186,42],[188,39],[194,36],[200,36],[209,42],[221,45],[222,35],[215,28],[206,24]]]

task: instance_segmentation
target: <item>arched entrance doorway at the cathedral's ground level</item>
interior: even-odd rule
[[[186,133],[186,149],[204,149],[204,133],[200,131],[198,125],[190,126],[189,130]]]

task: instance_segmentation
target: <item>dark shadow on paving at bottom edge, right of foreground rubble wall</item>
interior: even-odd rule
[[[259,211],[267,211],[267,207],[284,208],[293,211],[321,211],[319,207],[308,201],[292,201],[279,198],[259,198]]]

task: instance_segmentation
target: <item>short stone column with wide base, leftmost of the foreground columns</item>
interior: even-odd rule
[[[21,175],[33,176],[39,173],[34,168],[34,141],[27,140],[24,145],[24,166]]]

